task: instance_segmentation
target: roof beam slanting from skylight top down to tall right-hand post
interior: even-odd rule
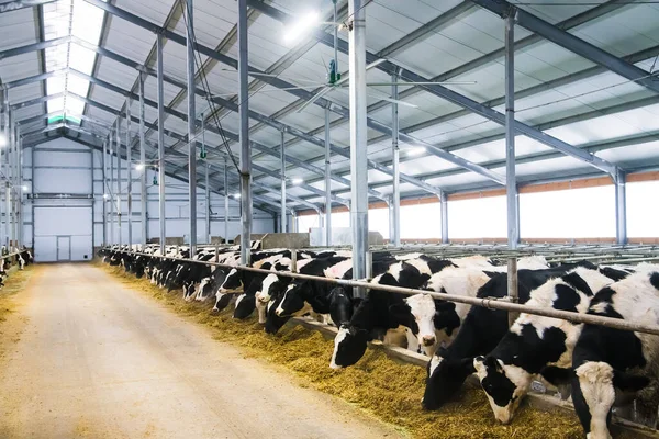
[[[100,9],[102,9],[102,10],[104,10],[105,12],[109,12],[109,13],[111,13],[113,15],[116,15],[120,19],[126,20],[127,22],[133,23],[133,24],[135,24],[137,26],[144,27],[144,29],[149,30],[149,31],[152,31],[154,33],[160,33],[166,38],[171,40],[171,41],[174,41],[176,43],[179,43],[181,45],[186,44],[186,37],[185,36],[178,35],[177,33],[175,33],[172,31],[169,31],[167,29],[163,29],[163,27],[158,26],[155,23],[152,23],[152,22],[149,22],[147,20],[144,20],[144,19],[142,19],[142,18],[135,15],[135,14],[132,14],[132,13],[130,13],[130,12],[121,9],[121,8],[118,8],[118,7],[113,5],[113,4],[105,3],[102,0],[85,0],[85,1],[88,2],[88,3],[90,3],[90,4],[93,4],[93,5],[98,7]],[[327,35],[327,36],[330,36],[330,34],[326,34],[325,32],[322,32],[322,33],[325,34],[325,35]],[[339,40],[339,43],[344,43],[343,50],[345,50],[344,53],[347,53],[347,48],[345,47],[345,46],[347,46],[347,43],[345,43],[345,42],[343,42],[340,40]],[[214,59],[219,60],[220,63],[223,63],[223,64],[225,64],[225,65],[227,65],[227,66],[230,66],[232,68],[237,69],[237,60],[231,58],[230,56],[216,53],[212,48],[206,47],[206,46],[204,46],[202,44],[196,44],[194,48],[200,54],[202,54],[202,55],[205,55],[205,56],[209,56],[211,58],[214,58]],[[368,57],[368,54],[367,54],[367,57]],[[389,70],[391,70],[391,67],[389,68]],[[257,69],[255,67],[249,67],[249,71],[250,72],[257,72],[257,74],[264,74],[263,70]],[[291,90],[291,88],[294,88],[295,85],[293,85],[291,82],[288,82],[288,81],[284,81],[281,78],[272,78],[272,77],[259,77],[259,78],[260,78],[261,81],[267,82],[267,83],[269,83],[269,85],[271,85],[271,86],[273,86],[276,88],[286,89],[286,92],[291,93],[291,94],[293,94],[293,95],[295,95],[298,98],[301,98],[301,99],[304,99],[304,100],[311,100],[311,99],[313,99],[313,94],[311,92],[306,91],[306,90],[302,90],[302,89],[293,89],[293,90]],[[338,105],[336,103],[331,103],[326,99],[323,99],[323,98],[317,99],[314,102],[314,104],[319,105],[321,108],[327,108],[328,106],[334,113],[339,114],[343,117],[348,117],[349,116],[349,110],[347,108],[344,108],[344,106]],[[376,131],[379,131],[381,133],[391,135],[391,128],[388,127],[387,125],[382,124],[382,123],[379,123],[379,122],[377,122],[377,121],[375,121],[375,120],[372,120],[370,117],[367,117],[367,124],[372,130],[376,130]],[[426,143],[424,140],[414,138],[414,137],[412,137],[412,136],[410,136],[407,134],[401,134],[400,137],[401,137],[401,140],[403,140],[405,143],[416,144],[416,145],[421,145],[421,146],[424,146],[426,148],[429,148],[432,150],[432,153],[435,154],[437,157],[440,157],[440,158],[443,158],[443,159],[445,159],[445,160],[447,160],[449,162],[453,162],[454,165],[457,165],[457,166],[467,168],[470,171],[480,173],[481,176],[483,176],[483,177],[485,177],[485,178],[488,178],[490,180],[496,181],[500,184],[505,184],[505,178],[503,176],[500,176],[500,175],[498,175],[495,172],[492,172],[492,171],[490,171],[488,169],[484,169],[484,168],[482,168],[482,167],[480,167],[480,166],[478,166],[476,164],[472,164],[469,160],[466,160],[466,159],[463,159],[461,157],[454,156],[453,154],[443,151],[442,149],[436,148],[434,145],[428,144],[428,143]],[[437,192],[437,191],[438,191],[438,189],[435,188],[435,192]]]

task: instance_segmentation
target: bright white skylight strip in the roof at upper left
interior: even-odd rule
[[[93,45],[99,44],[104,12],[85,0],[59,0],[44,4],[43,14],[46,40],[72,35]],[[49,100],[47,104],[48,113],[62,111],[63,117],[58,122],[66,119],[66,113],[82,114],[85,111],[85,103],[71,98],[68,92],[81,97],[87,97],[89,92],[89,81],[71,75],[68,69],[91,76],[94,59],[94,52],[77,44],[60,44],[46,49],[46,70],[63,70],[62,75],[46,80],[48,95],[64,92],[64,97]]]

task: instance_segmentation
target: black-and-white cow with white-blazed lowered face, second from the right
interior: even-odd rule
[[[611,270],[606,270],[611,273]],[[615,278],[619,278],[618,272]],[[628,274],[628,273],[626,273]],[[577,268],[530,292],[526,305],[585,313],[593,292],[614,280],[599,270]],[[496,348],[473,360],[494,417],[509,424],[533,379],[547,365],[569,368],[582,325],[558,318],[521,314]],[[567,392],[561,395],[567,397]]]

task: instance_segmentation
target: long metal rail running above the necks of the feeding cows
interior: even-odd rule
[[[230,266],[226,263],[201,261],[201,260],[197,260],[197,259],[188,259],[188,258],[183,259],[183,258],[175,258],[175,257],[170,257],[170,256],[159,256],[159,255],[156,256],[156,255],[146,254],[143,251],[127,251],[127,250],[121,250],[121,249],[112,250],[111,248],[110,248],[110,250],[115,251],[115,252],[134,255],[134,256],[145,256],[145,257],[149,257],[149,258],[160,258],[160,259],[177,260],[177,261],[181,261],[181,262],[200,263],[200,264],[206,264],[206,266],[211,266],[211,267],[221,267],[221,268],[236,269],[236,270],[243,270],[243,271],[252,271],[255,273],[263,273],[263,274],[277,274],[277,275],[284,277],[284,278],[326,282],[326,283],[331,283],[331,284],[335,284],[335,285],[362,288],[362,289],[384,291],[384,292],[390,292],[390,293],[400,293],[400,294],[405,294],[405,295],[428,294],[429,296],[432,296],[434,299],[438,299],[438,300],[447,301],[447,302],[463,303],[467,305],[482,306],[482,307],[490,308],[490,309],[507,311],[511,313],[533,314],[533,315],[538,315],[538,316],[544,316],[544,317],[559,318],[559,319],[568,320],[568,322],[572,322],[572,323],[600,325],[600,326],[606,326],[606,327],[614,328],[614,329],[638,331],[638,333],[645,333],[645,334],[651,334],[651,335],[659,336],[659,326],[655,326],[655,325],[643,325],[643,324],[637,324],[637,323],[633,323],[633,322],[628,322],[628,320],[624,320],[624,319],[619,319],[619,318],[602,317],[602,316],[596,316],[596,315],[591,315],[591,314],[580,314],[580,313],[573,313],[573,312],[569,312],[569,311],[559,311],[559,309],[547,308],[547,307],[523,305],[523,304],[518,304],[518,303],[511,303],[507,299],[501,299],[501,297],[482,297],[482,299],[467,297],[467,296],[461,296],[461,295],[436,293],[436,292],[432,292],[432,291],[415,290],[415,289],[409,289],[409,288],[402,288],[402,286],[373,284],[373,283],[369,283],[368,280],[346,280],[346,279],[320,278],[320,277],[315,277],[315,275],[301,274],[301,273],[289,272],[289,271],[270,271],[270,270],[263,270],[263,269],[253,268],[253,267]],[[292,254],[295,254],[295,251],[292,251]],[[217,251],[215,251],[215,256],[217,256]]]

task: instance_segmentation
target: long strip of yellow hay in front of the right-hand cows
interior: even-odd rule
[[[210,313],[209,304],[186,303],[181,292],[167,293],[148,281],[126,274],[122,268],[98,263],[132,289],[147,293],[177,313],[211,328],[216,340],[243,348],[246,357],[283,365],[302,381],[303,386],[344,398],[386,423],[393,424],[415,438],[450,439],[577,439],[583,431],[577,417],[566,410],[539,412],[521,407],[510,426],[499,424],[484,393],[465,390],[459,401],[439,412],[425,412],[421,397],[425,370],[388,357],[382,348],[372,347],[355,365],[330,369],[334,344],[320,333],[302,326],[287,325],[269,336],[255,318],[231,318],[231,309]]]

